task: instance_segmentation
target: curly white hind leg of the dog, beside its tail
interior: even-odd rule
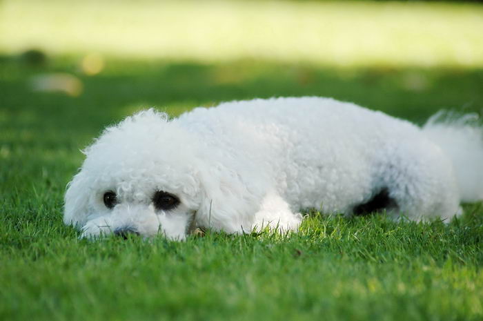
[[[440,217],[449,222],[461,213],[460,195],[453,166],[433,143],[420,140],[400,144],[391,162],[382,166],[382,186],[397,204],[388,211],[393,218],[427,220]]]

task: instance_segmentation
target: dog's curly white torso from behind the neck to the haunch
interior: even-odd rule
[[[268,173],[295,208],[352,213],[385,191],[386,203],[413,218],[460,211],[462,188],[449,155],[427,128],[384,113],[302,97],[232,101],[178,121],[204,144]]]

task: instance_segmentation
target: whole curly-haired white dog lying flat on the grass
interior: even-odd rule
[[[449,220],[483,199],[483,130],[469,120],[420,128],[319,97],[146,110],[86,148],[64,222],[183,240],[196,227],[297,231],[303,208]]]

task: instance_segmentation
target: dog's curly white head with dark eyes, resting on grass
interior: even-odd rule
[[[201,205],[197,146],[163,113],[107,128],[68,184],[64,222],[84,237],[111,233],[183,240]]]

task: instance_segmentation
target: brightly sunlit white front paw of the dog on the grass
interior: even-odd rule
[[[259,211],[255,213],[252,228],[261,231],[270,228],[272,231],[284,233],[297,231],[302,222],[302,214],[293,213],[288,203],[277,193],[267,193],[262,200]]]

